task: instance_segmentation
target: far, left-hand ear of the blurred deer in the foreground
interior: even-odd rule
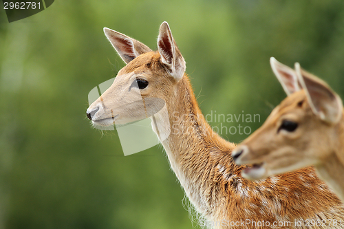
[[[294,69],[279,63],[275,57],[270,58],[270,65],[272,71],[279,80],[279,83],[281,83],[284,91],[286,91],[287,96],[293,94],[295,91],[301,90],[299,81],[297,80],[297,74]]]

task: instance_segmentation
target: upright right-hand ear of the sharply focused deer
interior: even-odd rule
[[[171,76],[180,80],[185,72],[186,64],[180,50],[173,39],[169,24],[164,21],[160,25],[158,51],[161,61],[169,69]]]

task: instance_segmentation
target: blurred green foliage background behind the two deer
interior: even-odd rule
[[[85,116],[89,91],[124,66],[103,27],[155,49],[162,21],[204,114],[259,114],[239,122],[257,129],[286,97],[270,56],[344,98],[342,0],[60,0],[13,23],[1,8],[0,228],[198,228],[162,146],[125,157]]]

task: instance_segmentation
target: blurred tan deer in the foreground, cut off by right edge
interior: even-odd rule
[[[262,179],[315,166],[316,172],[344,201],[344,118],[341,98],[323,80],[270,59],[288,97],[266,122],[244,140],[233,157],[237,164],[255,164],[242,171]]]

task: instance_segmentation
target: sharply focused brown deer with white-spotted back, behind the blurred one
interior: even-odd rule
[[[103,126],[132,122],[147,118],[149,107],[145,102],[143,108],[132,102],[138,94],[143,101],[164,100],[167,113],[156,114],[152,126],[158,137],[168,135],[162,146],[187,197],[204,216],[202,225],[341,228],[332,222],[344,221],[344,206],[312,168],[260,182],[241,177],[241,170],[247,166],[233,162],[230,153],[235,144],[217,135],[202,115],[168,23],[160,26],[158,51],[114,30],[104,31],[127,65],[120,69],[113,85],[89,106],[88,118],[94,125]],[[135,94],[133,99],[129,98],[131,92]]]

